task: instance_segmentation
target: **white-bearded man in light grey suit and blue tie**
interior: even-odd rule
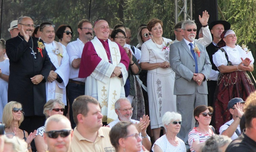
[[[187,20],[182,23],[183,39],[170,45],[170,67],[175,71],[174,95],[177,110],[182,116],[178,137],[185,143],[192,130],[193,110],[207,105],[207,83],[211,63],[205,46],[196,42],[196,24]]]

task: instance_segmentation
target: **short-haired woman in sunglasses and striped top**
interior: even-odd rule
[[[188,134],[188,144],[191,152],[200,152],[205,141],[215,135],[210,125],[213,108],[205,105],[194,109],[194,118],[198,127],[194,127]]]

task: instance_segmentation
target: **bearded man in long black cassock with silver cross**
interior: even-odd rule
[[[25,115],[20,129],[28,133],[44,125],[45,83],[52,66],[43,41],[31,37],[34,26],[30,17],[20,17],[18,36],[6,41],[10,60],[8,102],[22,104]]]

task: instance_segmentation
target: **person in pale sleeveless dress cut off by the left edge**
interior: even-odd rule
[[[9,80],[9,59],[5,55],[5,40],[0,39],[0,122],[2,122],[4,106],[7,104],[7,90]]]

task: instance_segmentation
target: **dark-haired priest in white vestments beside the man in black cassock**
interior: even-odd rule
[[[41,39],[52,62],[52,69],[46,83],[47,101],[60,99],[67,106],[66,86],[69,81],[69,56],[66,48],[54,41],[55,25],[49,22],[40,24]],[[65,114],[64,114],[65,115]]]

